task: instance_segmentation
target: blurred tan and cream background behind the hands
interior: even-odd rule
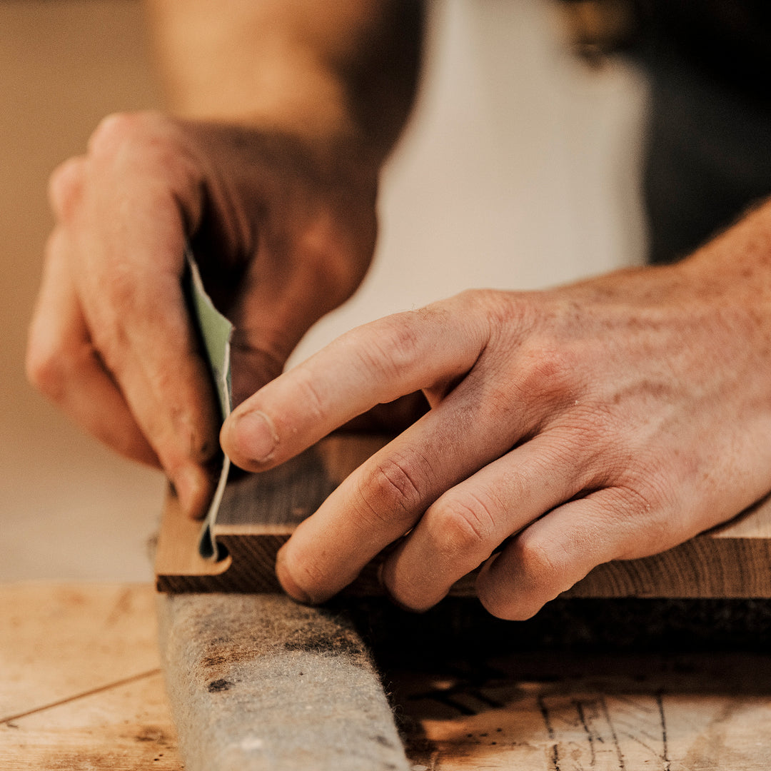
[[[385,171],[375,266],[301,343],[470,287],[542,288],[641,262],[647,89],[592,66],[548,0],[435,0],[412,121]],[[162,106],[137,0],[0,0],[0,581],[146,581],[165,482],[26,384],[49,173],[116,110]]]

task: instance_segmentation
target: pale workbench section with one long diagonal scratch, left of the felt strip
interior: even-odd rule
[[[0,585],[0,769],[179,771],[146,585]]]

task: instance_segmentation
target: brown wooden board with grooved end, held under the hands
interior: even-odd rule
[[[382,437],[334,436],[264,474],[231,480],[214,528],[227,556],[197,554],[200,524],[170,497],[157,550],[157,587],[183,591],[281,591],[275,554],[301,520],[315,511],[345,476],[385,443]],[[348,594],[382,594],[378,560]],[[474,574],[451,594],[473,595]],[[765,500],[729,524],[663,554],[596,567],[565,593],[571,597],[771,597],[771,502]]]

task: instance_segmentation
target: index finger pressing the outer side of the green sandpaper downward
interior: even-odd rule
[[[72,275],[89,335],[133,419],[183,507],[203,513],[218,416],[181,286],[185,224],[170,190],[129,177],[122,188],[93,183],[89,194],[102,200],[63,224]]]

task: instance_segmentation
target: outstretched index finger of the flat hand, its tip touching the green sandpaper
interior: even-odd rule
[[[460,295],[347,332],[238,406],[221,432],[225,453],[268,470],[377,404],[466,374],[488,337],[469,310]]]

